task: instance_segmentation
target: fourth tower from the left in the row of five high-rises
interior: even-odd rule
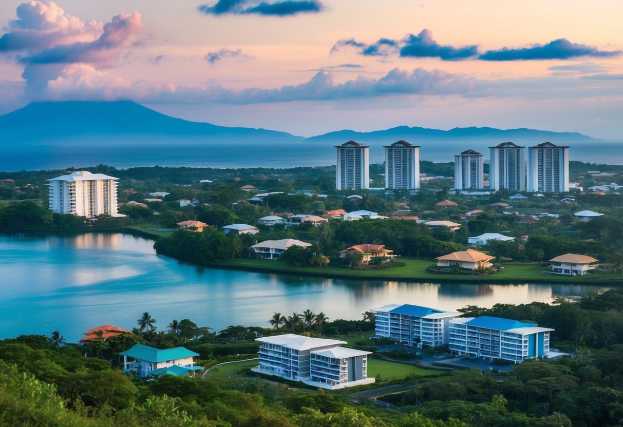
[[[513,143],[502,143],[491,149],[489,163],[489,188],[523,191],[526,189],[526,165],[523,154],[525,147]]]

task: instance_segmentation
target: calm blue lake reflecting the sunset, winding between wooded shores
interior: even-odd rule
[[[120,233],[0,235],[0,339],[20,334],[70,342],[100,324],[126,329],[145,311],[166,329],[191,319],[216,331],[269,326],[273,312],[312,309],[331,319],[359,319],[390,303],[440,309],[468,304],[551,301],[602,286],[564,284],[412,283],[309,278],[218,270],[158,256],[153,242]]]

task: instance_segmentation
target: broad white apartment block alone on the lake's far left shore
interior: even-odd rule
[[[118,178],[75,171],[47,181],[50,187],[49,208],[52,212],[87,218],[102,214],[125,216],[117,214]]]

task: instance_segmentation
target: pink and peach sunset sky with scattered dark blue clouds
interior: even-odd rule
[[[623,140],[621,22],[621,0],[2,0],[0,114],[133,100],[301,136],[491,126]]]

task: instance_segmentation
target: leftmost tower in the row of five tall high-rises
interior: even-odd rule
[[[370,188],[369,147],[348,141],[335,148],[338,149],[335,188],[338,190]]]

